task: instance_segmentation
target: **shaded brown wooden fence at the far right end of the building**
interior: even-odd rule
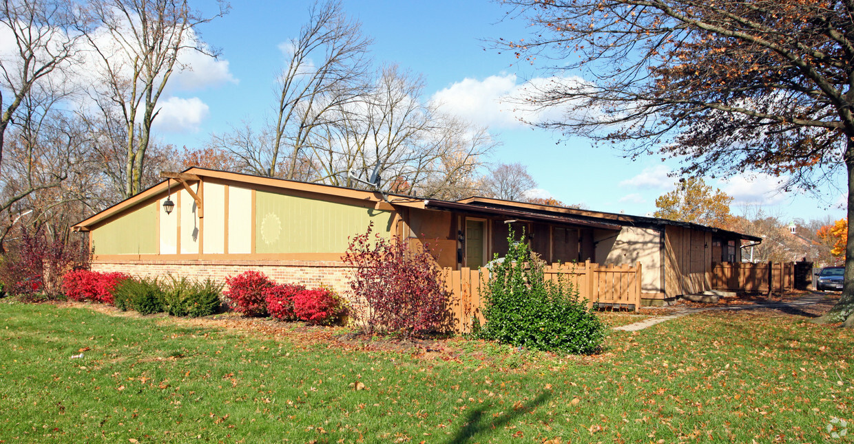
[[[723,291],[772,292],[793,290],[794,262],[722,262],[711,269],[711,288]]]

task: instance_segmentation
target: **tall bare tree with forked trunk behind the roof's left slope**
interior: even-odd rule
[[[101,118],[117,119],[123,137],[124,197],[142,191],[151,125],[160,111],[157,102],[173,72],[184,69],[180,56],[190,51],[210,56],[197,28],[228,9],[205,16],[190,9],[187,0],[93,0],[96,32],[86,32],[99,61],[99,84],[91,95]],[[105,124],[114,126],[114,124]],[[114,128],[110,129],[114,131]]]

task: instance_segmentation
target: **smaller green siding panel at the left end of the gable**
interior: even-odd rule
[[[95,228],[91,235],[96,254],[157,254],[157,204]]]

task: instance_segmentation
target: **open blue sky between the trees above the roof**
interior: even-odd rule
[[[213,3],[197,3],[202,9]],[[260,125],[277,99],[274,81],[284,66],[282,43],[295,37],[307,20],[310,2],[232,3],[225,17],[201,28],[209,45],[219,48],[219,61],[190,61],[194,71],[176,77],[164,100],[170,102],[156,124],[161,141],[178,147],[201,147],[211,132],[223,132],[243,121]],[[362,23],[374,40],[372,55],[424,76],[424,100],[442,101],[447,112],[488,125],[501,142],[492,162],[520,162],[538,182],[543,196],[582,203],[592,210],[646,215],[655,198],[673,188],[667,172],[676,161],[658,156],[632,162],[619,150],[594,147],[585,139],[566,139],[518,123],[500,95],[521,88],[537,72],[516,64],[485,40],[518,39],[528,32],[524,20],[501,20],[507,9],[498,3],[470,1],[345,1],[344,9]],[[767,213],[791,220],[845,216],[836,208],[844,184],[814,194],[777,193],[775,179],[735,176],[726,182],[707,180],[734,196],[732,211],[762,205]]]

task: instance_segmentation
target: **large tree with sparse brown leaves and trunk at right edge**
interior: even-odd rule
[[[535,29],[500,46],[552,75],[523,100],[565,111],[541,126],[679,158],[683,176],[809,187],[844,170],[854,216],[854,3],[506,3]],[[819,321],[854,326],[854,243],[846,252],[843,297]]]

